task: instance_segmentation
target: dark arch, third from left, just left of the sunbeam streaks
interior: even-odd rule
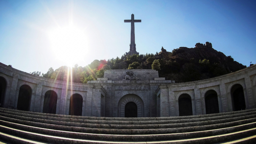
[[[43,113],[56,114],[57,93],[50,90],[44,94]]]

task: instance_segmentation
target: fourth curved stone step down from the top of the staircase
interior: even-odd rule
[[[9,115],[12,116],[12,115]],[[14,119],[10,117],[0,116],[0,124],[3,121],[16,123],[16,124],[24,124],[28,126],[52,129],[52,130],[60,130],[60,131],[70,131],[70,132],[86,132],[86,133],[103,133],[103,134],[165,134],[165,133],[179,133],[179,132],[196,132],[196,131],[206,131],[206,130],[213,130],[213,129],[220,129],[226,127],[232,127],[236,125],[248,124],[256,122],[256,114],[243,116],[243,120],[228,122],[228,123],[220,123],[220,124],[210,124],[210,125],[201,125],[201,126],[190,126],[184,127],[184,125],[176,125],[172,128],[156,128],[156,129],[120,129],[116,125],[118,129],[105,129],[105,128],[87,128],[87,127],[76,127],[76,126],[65,126],[65,125],[55,125],[55,124],[45,124],[45,123],[37,123],[31,121],[24,121],[20,119]],[[246,118],[247,117],[247,118]],[[248,118],[252,117],[252,118]],[[16,117],[17,118],[17,117]],[[1,121],[2,120],[2,121]],[[4,125],[4,124],[2,124]],[[121,125],[122,126],[122,125]],[[138,125],[135,125],[138,126]],[[148,125],[150,126],[150,125]],[[180,126],[180,127],[179,127]],[[183,126],[183,127],[182,127]],[[186,125],[185,125],[186,126]],[[122,128],[122,127],[121,127]],[[145,127],[148,128],[148,127]]]

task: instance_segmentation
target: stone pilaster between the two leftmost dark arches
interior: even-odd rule
[[[17,89],[17,84],[18,84],[18,75],[13,74],[12,75],[12,85],[11,85],[11,90],[10,90],[10,96],[9,96],[9,102],[8,102],[8,108],[17,108],[17,105],[15,105],[15,96],[16,96],[16,89]]]

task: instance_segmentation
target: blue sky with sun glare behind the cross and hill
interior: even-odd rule
[[[208,41],[243,65],[256,63],[256,1],[249,0],[1,0],[0,62],[46,73],[121,57],[130,48],[131,24],[124,20],[132,13],[141,20],[135,23],[140,54]]]

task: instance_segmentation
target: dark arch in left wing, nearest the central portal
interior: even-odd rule
[[[71,116],[82,116],[83,110],[83,97],[75,93],[70,97],[69,102],[69,115]]]

